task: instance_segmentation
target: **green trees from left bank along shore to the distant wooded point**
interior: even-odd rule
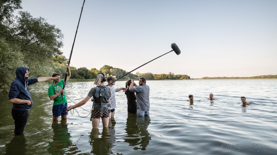
[[[22,9],[21,0],[0,1],[0,91],[10,87],[15,78],[16,68],[30,68],[30,78],[49,77],[54,72],[65,76],[67,60],[60,50],[63,34],[55,25],[43,17],[33,17]],[[70,67],[72,79],[93,79],[98,72],[119,78],[127,72],[120,68],[104,65],[100,70],[85,67]],[[128,74],[122,80],[145,77],[155,79],[186,79],[187,75],[139,73]],[[7,89],[8,90],[8,89]]]

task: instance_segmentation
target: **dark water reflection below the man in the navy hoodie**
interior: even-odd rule
[[[6,153],[7,155],[20,155],[25,154],[27,152],[26,139],[24,137],[24,134],[14,136],[12,141],[8,144],[6,144]]]

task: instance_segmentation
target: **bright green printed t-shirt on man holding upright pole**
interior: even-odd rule
[[[62,89],[63,89],[63,80],[61,80],[57,85],[50,85],[49,86],[48,96],[55,95]],[[59,94],[58,97],[54,98],[53,106],[59,105],[59,104],[64,104],[64,103],[67,103],[65,93],[63,93],[63,97],[61,96],[61,94]]]

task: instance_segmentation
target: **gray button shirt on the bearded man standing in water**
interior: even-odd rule
[[[149,88],[149,86],[147,86],[145,84],[142,86],[132,87],[131,91],[136,93],[137,107],[141,111],[144,111],[144,112],[149,111],[149,108],[150,108],[150,102],[149,102],[150,88]]]

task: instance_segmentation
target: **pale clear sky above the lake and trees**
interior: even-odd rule
[[[83,0],[23,0],[64,34],[69,58]],[[70,66],[204,76],[277,74],[276,0],[87,0]]]

